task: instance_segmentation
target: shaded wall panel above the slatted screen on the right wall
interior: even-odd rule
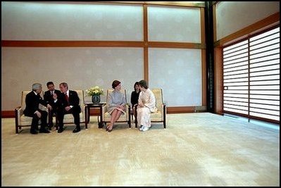
[[[280,11],[279,1],[220,1],[216,9],[217,39]]]

